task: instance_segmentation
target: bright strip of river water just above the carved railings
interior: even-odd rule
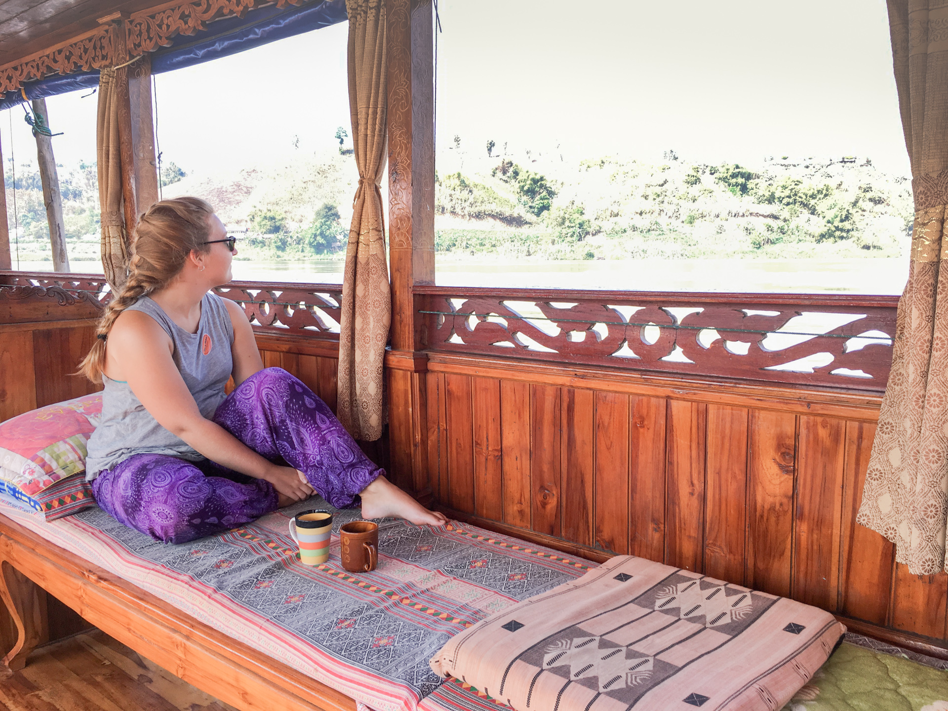
[[[101,273],[98,262],[72,262],[74,272]],[[235,260],[234,279],[255,282],[342,283],[342,262]],[[21,262],[27,271],[50,271],[50,262]],[[717,259],[521,262],[438,259],[436,283],[444,286],[616,289],[623,291],[720,291],[890,294],[902,293],[908,258]]]

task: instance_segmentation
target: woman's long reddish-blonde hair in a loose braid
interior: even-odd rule
[[[199,197],[161,200],[139,219],[132,239],[128,279],[105,307],[96,328],[96,342],[82,360],[79,373],[101,384],[105,367],[105,337],[118,315],[142,296],[172,282],[191,251],[207,253],[213,208]]]

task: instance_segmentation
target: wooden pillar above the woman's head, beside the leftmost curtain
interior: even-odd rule
[[[152,55],[129,65],[129,106],[132,118],[132,154],[135,162],[136,214],[158,201],[155,160],[155,122],[152,119]]]

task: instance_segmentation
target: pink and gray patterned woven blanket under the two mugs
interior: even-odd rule
[[[375,711],[414,711],[442,680],[428,660],[497,611],[553,590],[595,564],[465,524],[379,520],[379,566],[342,570],[338,526],[329,561],[304,566],[287,520],[295,504],[191,543],[158,543],[98,507],[46,522],[15,504],[0,512],[89,562],[291,665]]]

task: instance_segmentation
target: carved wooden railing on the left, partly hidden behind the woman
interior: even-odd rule
[[[108,283],[99,274],[9,272],[0,276],[2,284],[32,287],[31,293],[37,296],[87,300],[100,308],[111,297]],[[239,303],[255,331],[338,338],[342,302],[339,284],[231,282],[214,291]]]

